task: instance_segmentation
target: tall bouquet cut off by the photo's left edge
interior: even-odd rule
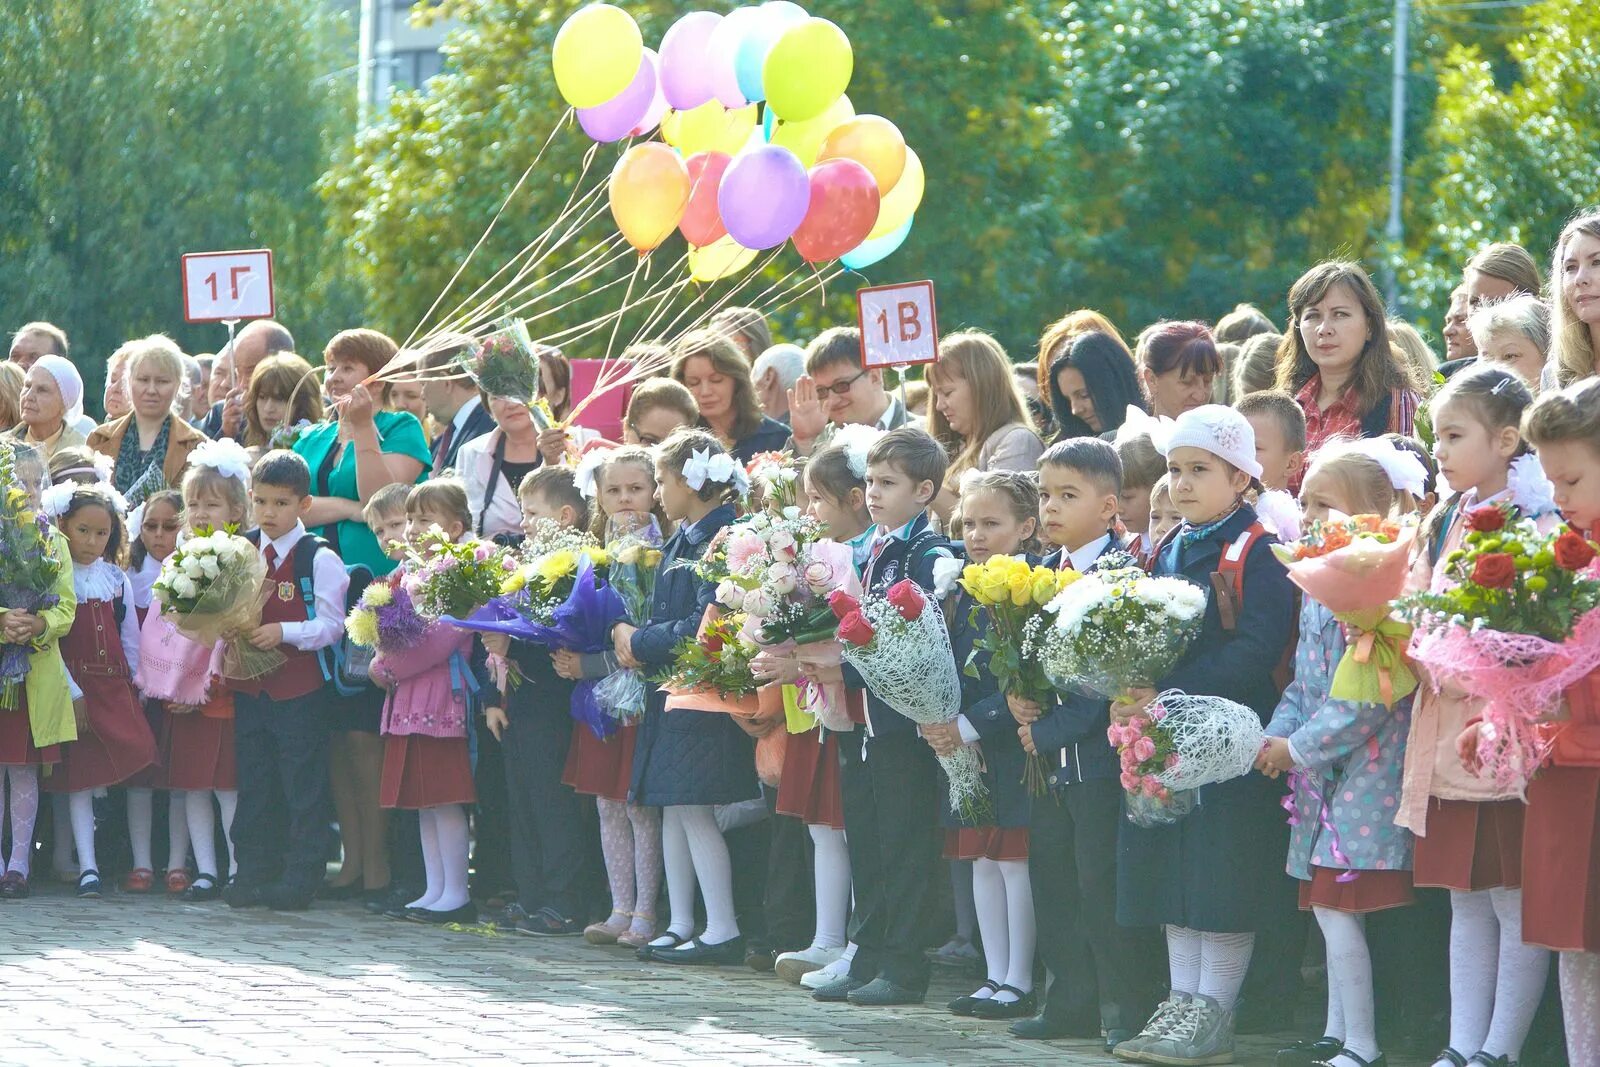
[[[62,566],[54,531],[34,509],[18,475],[16,450],[0,438],[0,616],[56,606]],[[21,707],[29,651],[26,645],[0,643],[0,709]]]

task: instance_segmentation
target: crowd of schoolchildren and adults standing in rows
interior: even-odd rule
[[[238,909],[358,899],[659,965],[747,963],[854,1006],[922,1001],[931,965],[968,965],[984,981],[950,1011],[1029,1038],[1102,1035],[1155,1064],[1232,1062],[1235,1032],[1293,1029],[1301,965],[1320,958],[1326,1021],[1278,1064],[1382,1064],[1379,1022],[1442,1040],[1435,1067],[1515,1064],[1558,1001],[1570,1062],[1594,1067],[1600,675],[1566,693],[1525,795],[1501,789],[1458,755],[1474,701],[1450,685],[1392,705],[1330,696],[1346,633],[1270,550],[1301,518],[1418,515],[1411,584],[1440,589],[1477,506],[1595,534],[1600,214],[1560,232],[1546,278],[1515,245],[1474,256],[1443,342],[1390,318],[1354,262],[1307,270],[1282,328],[1238,306],[1130,346],[1074,310],[1034,363],[962,331],[898,387],[862,370],[853,328],[774,344],[760,312],[733,309],[634,382],[608,440],[566,424],[573,373],[555,349],[538,352],[544,424],[450,373],[470,338],[435,339],[414,373],[379,382],[400,355],[382,333],[339,333],[318,371],[275,322],[216,358],[163,336],[125,344],[94,426],[66,333],[29,323],[0,363],[0,426],[70,568],[59,605],[0,617],[34,664],[19,707],[0,710],[0,899],[29,896],[37,856],[82,897],[115,873],[122,893]],[[1256,773],[1139,827],[1107,728],[1155,689],[1042,707],[978,672],[955,721],[918,728],[853,669],[776,651],[762,678],[842,685],[851,723],[790,736],[770,781],[752,739],[786,729],[781,702],[739,721],[666,710],[651,686],[637,725],[603,741],[576,726],[578,681],[653,673],[701,625],[715,590],[682,563],[760,506],[733,472],[770,451],[805,462],[805,510],[851,545],[866,590],[910,579],[949,597],[960,664],[979,624],[941,581],[947,560],[1090,571],[1126,552],[1192,581],[1205,625],[1155,688],[1254,709],[1269,734]],[[738,466],[710,462],[722,454]],[[1531,456],[1555,510],[1523,496]],[[405,566],[424,531],[515,544],[538,523],[603,534],[646,515],[667,534],[659,581],[608,651],[462,630],[418,662],[379,654],[334,696],[326,653],[358,584]],[[158,699],[176,638],[152,585],[216,528],[250,531],[264,555],[251,643],[282,664]],[[198,673],[219,670],[203,657]],[[962,745],[981,745],[995,798],[981,825],[942,801],[934,757]],[[1026,757],[1048,768],[1043,797],[1022,785]],[[1285,776],[1315,787],[1291,795]]]

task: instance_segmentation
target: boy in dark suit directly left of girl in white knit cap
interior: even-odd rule
[[[1154,445],[1152,445],[1154,448]],[[1040,520],[1054,547],[1045,566],[1090,571],[1117,552],[1110,530],[1125,494],[1120,453],[1075,438],[1040,458]],[[1048,765],[1050,795],[1034,801],[1029,873],[1038,917],[1038,953],[1050,968],[1045,1011],[1011,1032],[1026,1038],[1099,1037],[1107,1051],[1133,1037],[1154,1003],[1149,966],[1152,928],[1117,923],[1117,827],[1122,787],[1117,753],[1106,741],[1110,702],[1061,694],[1045,709],[1008,697],[1022,747]]]

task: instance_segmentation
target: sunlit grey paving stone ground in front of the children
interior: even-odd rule
[[[1019,1041],[934,1006],[819,1005],[771,974],[643,965],[576,937],[66,893],[0,902],[5,1067],[1117,1062],[1090,1041]],[[970,989],[938,976],[928,1005]],[[1280,1045],[1243,1038],[1240,1062],[1270,1064]]]

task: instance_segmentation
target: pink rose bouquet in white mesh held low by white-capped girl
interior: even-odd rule
[[[1168,689],[1106,737],[1122,760],[1128,821],[1155,827],[1194,811],[1202,785],[1248,774],[1266,733],[1243,704]]]

